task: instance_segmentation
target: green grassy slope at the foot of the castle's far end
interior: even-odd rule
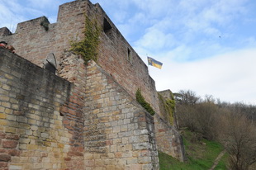
[[[177,159],[159,152],[160,170],[207,170],[213,165],[223,147],[206,139],[201,139],[201,135],[184,130],[183,141],[185,144],[187,161],[180,163]],[[227,155],[220,159],[220,163],[215,170],[227,169]]]

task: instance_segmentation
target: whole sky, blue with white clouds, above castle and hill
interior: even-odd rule
[[[36,17],[56,21],[69,0],[0,0],[0,27]],[[157,90],[192,90],[225,102],[256,104],[256,1],[92,0],[149,66]]]

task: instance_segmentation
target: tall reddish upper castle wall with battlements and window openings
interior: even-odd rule
[[[16,48],[17,54],[29,59],[32,63],[43,66],[46,56],[54,53],[57,63],[64,50],[69,50],[70,40],[83,39],[84,14],[97,18],[102,26],[101,44],[99,45],[98,64],[107,73],[111,73],[121,86],[126,88],[132,96],[141,88],[146,100],[159,111],[154,80],[150,78],[148,68],[135,50],[117,30],[99,4],[93,5],[89,1],[73,1],[59,6],[56,23],[50,24],[46,17],[39,17],[31,21],[24,21],[17,25],[14,34],[6,28],[0,29],[1,40],[6,40]],[[48,25],[45,30],[41,23]],[[104,29],[104,26],[108,28]],[[129,51],[129,52],[128,52]],[[59,67],[58,67],[59,68]]]

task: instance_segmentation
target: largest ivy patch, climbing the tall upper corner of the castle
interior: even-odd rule
[[[71,40],[70,50],[73,50],[75,54],[81,55],[85,63],[87,63],[90,59],[97,62],[97,47],[100,43],[99,36],[101,29],[100,26],[98,26],[96,19],[90,20],[88,16],[84,16],[84,39],[80,41]]]

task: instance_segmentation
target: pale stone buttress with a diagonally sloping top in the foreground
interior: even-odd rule
[[[87,73],[87,166],[159,169],[154,118],[97,64],[89,63]]]

